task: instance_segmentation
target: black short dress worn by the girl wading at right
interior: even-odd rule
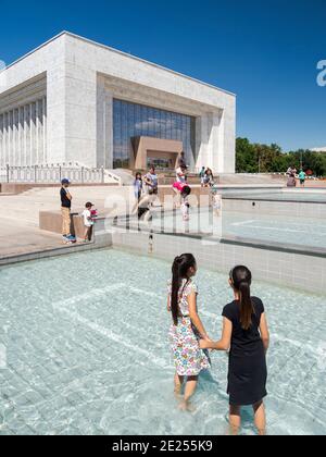
[[[255,313],[249,330],[241,326],[238,301],[228,304],[223,310],[223,317],[233,323],[227,388],[233,406],[253,405],[267,395],[266,357],[259,331],[264,305],[256,297],[252,297],[252,302]]]

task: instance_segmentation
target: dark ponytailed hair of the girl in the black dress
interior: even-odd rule
[[[252,314],[255,312],[250,293],[251,271],[247,267],[239,265],[231,270],[229,277],[235,291],[240,295],[240,322],[242,329],[249,330],[252,324]]]

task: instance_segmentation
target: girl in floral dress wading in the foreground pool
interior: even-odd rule
[[[199,347],[200,338],[212,344],[198,316],[198,289],[192,282],[197,273],[196,259],[191,254],[177,257],[172,268],[173,279],[168,283],[167,310],[172,312],[173,324],[170,343],[176,366],[175,394],[185,395],[180,404],[184,410],[190,409],[190,398],[195,394],[198,375],[210,368],[210,359]]]

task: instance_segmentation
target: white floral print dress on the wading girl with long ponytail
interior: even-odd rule
[[[197,376],[202,370],[210,368],[210,359],[199,347],[199,332],[189,317],[188,297],[198,294],[197,285],[191,280],[183,280],[179,289],[178,325],[170,329],[170,344],[179,376]],[[168,295],[172,294],[172,282],[168,282]]]

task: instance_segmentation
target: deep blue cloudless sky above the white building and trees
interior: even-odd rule
[[[0,0],[0,60],[70,30],[234,91],[237,134],[326,146],[325,0]]]

